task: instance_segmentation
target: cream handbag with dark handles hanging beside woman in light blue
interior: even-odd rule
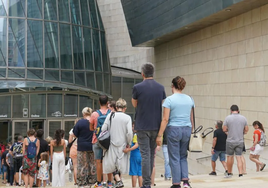
[[[214,129],[212,127],[209,127],[209,128],[206,128],[201,133],[201,130],[203,129],[202,125],[195,128],[194,108],[192,109],[193,109],[193,119],[194,119],[194,132],[191,134],[191,138],[189,142],[189,151],[190,152],[202,152],[203,145],[204,145],[207,135],[212,133]]]

